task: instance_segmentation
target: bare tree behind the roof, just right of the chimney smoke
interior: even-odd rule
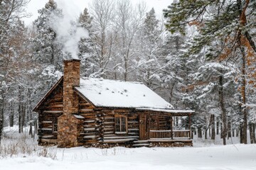
[[[90,5],[92,13],[93,32],[92,44],[97,56],[96,77],[107,77],[108,64],[113,57],[112,48],[114,38],[111,33],[112,21],[114,18],[113,0],[95,0]]]

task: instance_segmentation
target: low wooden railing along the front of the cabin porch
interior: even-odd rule
[[[173,130],[173,135],[171,135],[171,130],[150,130],[150,138],[171,137],[173,139],[190,138],[190,130]]]

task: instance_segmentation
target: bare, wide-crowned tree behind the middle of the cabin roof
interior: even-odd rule
[[[124,81],[128,81],[128,74],[134,70],[131,67],[131,60],[136,54],[134,40],[143,26],[146,5],[140,3],[134,7],[129,0],[118,1],[116,14],[114,24],[119,31],[118,55],[124,66]]]

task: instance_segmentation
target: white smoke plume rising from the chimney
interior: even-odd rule
[[[55,16],[52,13],[50,19],[50,27],[53,28],[57,35],[58,42],[61,42],[64,47],[64,51],[68,55],[64,55],[64,60],[79,59],[78,58],[78,42],[80,38],[88,38],[88,31],[84,28],[77,26],[77,18],[74,15],[74,11],[78,11],[77,6],[66,1],[55,0],[58,8],[62,8],[63,17]],[[71,58],[70,58],[71,57]]]

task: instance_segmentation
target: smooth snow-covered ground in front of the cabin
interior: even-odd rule
[[[7,143],[14,142],[14,140],[12,138],[5,139],[2,145],[6,146]],[[19,153],[12,157],[1,157],[1,170],[256,169],[256,145],[222,146],[196,140],[194,147],[114,147],[111,149],[76,147],[60,149],[38,147],[29,138],[26,138],[26,142],[35,151]]]

